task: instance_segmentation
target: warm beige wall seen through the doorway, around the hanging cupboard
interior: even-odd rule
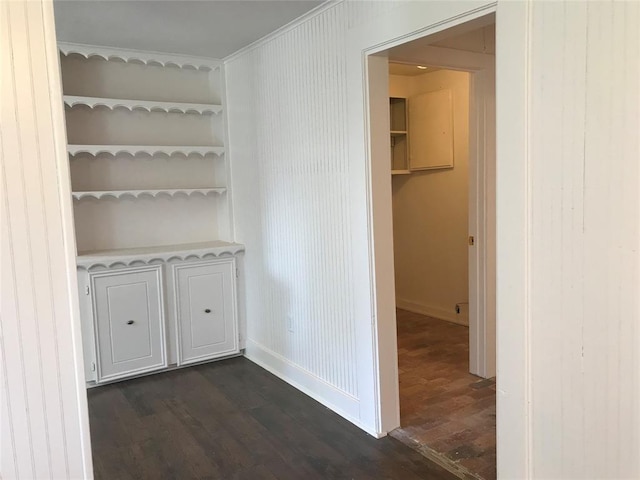
[[[396,305],[468,325],[468,311],[458,315],[455,305],[469,301],[469,74],[389,76],[389,95],[409,102],[445,88],[453,98],[454,167],[392,177]]]

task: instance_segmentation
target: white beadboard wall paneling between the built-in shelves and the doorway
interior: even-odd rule
[[[242,126],[230,121],[234,184],[253,186],[251,200],[236,191],[234,201],[252,203],[260,218],[236,212],[238,240],[250,252],[248,316],[260,319],[249,338],[356,396],[343,8],[312,17],[226,71],[232,110],[245,105],[252,117],[250,127],[244,117]],[[244,84],[253,102],[239,88],[247,75],[257,79]],[[245,128],[255,128],[250,155],[234,150]],[[252,170],[258,174],[250,178]]]

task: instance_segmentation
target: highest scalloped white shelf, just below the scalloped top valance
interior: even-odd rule
[[[125,108],[127,110],[146,110],[147,112],[166,113],[199,113],[218,114],[222,111],[222,105],[206,103],[175,103],[156,102],[151,100],[127,100],[120,98],[79,97],[65,95],[64,103],[69,107],[86,105],[89,108],[106,107],[110,110]]]

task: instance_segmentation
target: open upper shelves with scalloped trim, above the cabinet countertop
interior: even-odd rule
[[[220,62],[59,49],[78,250],[232,241]]]

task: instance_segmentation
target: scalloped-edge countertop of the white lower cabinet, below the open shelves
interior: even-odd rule
[[[78,267],[91,269],[97,267],[128,267],[170,260],[202,260],[225,255],[236,255],[244,251],[240,243],[213,240],[210,242],[163,245],[157,247],[138,247],[114,250],[80,252]]]

